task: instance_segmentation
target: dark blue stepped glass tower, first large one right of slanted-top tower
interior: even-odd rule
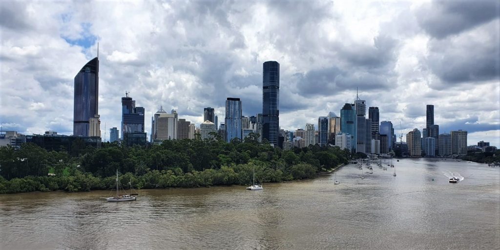
[[[135,132],[144,133],[144,108],[135,107],[135,101],[125,92],[125,97],[121,97],[121,138]]]

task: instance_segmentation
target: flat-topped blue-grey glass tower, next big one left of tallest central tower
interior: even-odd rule
[[[241,139],[241,101],[239,98],[228,97],[225,101],[225,139]]]

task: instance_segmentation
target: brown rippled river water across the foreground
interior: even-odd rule
[[[396,177],[346,165],[339,185],[140,190],[121,203],[99,199],[109,191],[0,195],[0,250],[500,249],[500,168],[392,163]]]

